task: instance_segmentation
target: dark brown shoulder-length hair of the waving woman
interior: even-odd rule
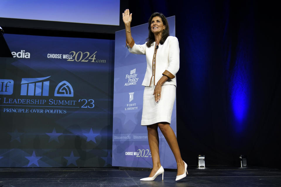
[[[150,47],[151,44],[153,44],[153,42],[155,41],[154,34],[153,34],[153,32],[151,31],[151,28],[150,28],[151,21],[155,16],[159,16],[161,18],[162,22],[163,22],[163,25],[165,25],[165,29],[162,32],[160,44],[163,45],[164,42],[166,41],[167,37],[170,35],[169,25],[168,25],[168,21],[167,21],[165,15],[163,15],[162,13],[159,13],[159,12],[153,13],[148,20],[148,38],[146,39],[146,41],[147,41],[146,46],[148,46],[148,47]]]

